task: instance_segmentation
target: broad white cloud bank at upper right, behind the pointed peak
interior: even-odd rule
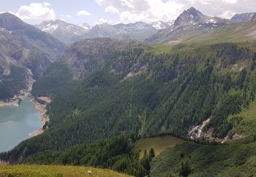
[[[255,0],[94,0],[105,12],[119,14],[119,22],[175,20],[189,7],[208,16],[230,18],[233,14],[255,12]]]

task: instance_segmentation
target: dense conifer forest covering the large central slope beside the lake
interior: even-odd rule
[[[210,116],[206,129],[213,128],[214,137],[236,133],[242,121],[229,116],[248,107],[255,98],[255,53],[244,44],[171,50],[162,54],[143,46],[113,50],[103,56],[104,65],[96,65],[80,77],[68,63],[54,63],[32,91],[35,96],[53,98],[48,105],[51,121],[44,126],[46,131],[2,153],[0,158],[14,163],[94,165],[136,174],[130,168],[139,172],[141,163],[126,141],[128,149],[120,151],[122,155],[109,155],[109,142],[102,140],[120,131],[137,137],[171,134],[188,139],[190,127],[201,125]],[[77,55],[80,60],[88,57],[85,53]],[[249,124],[243,126],[250,129]],[[244,142],[255,141],[254,131],[246,133]],[[97,148],[88,145],[100,142]],[[70,151],[62,151],[66,148]],[[90,161],[84,154],[102,149],[108,158],[96,153]],[[80,153],[79,157],[70,157]],[[191,171],[188,165],[184,161],[182,174]],[[144,172],[149,173],[146,166],[144,163]]]

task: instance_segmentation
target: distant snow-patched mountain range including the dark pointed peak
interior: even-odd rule
[[[135,22],[130,24],[109,25],[107,23],[90,27],[72,25],[62,20],[51,20],[36,25],[42,31],[51,33],[65,44],[85,38],[112,37],[115,39],[136,39],[141,42],[176,43],[184,39],[184,35],[200,35],[218,27],[234,25],[248,21],[255,13],[236,14],[231,20],[205,16],[194,7],[185,10],[176,20],[170,22]],[[190,36],[189,36],[190,37]]]

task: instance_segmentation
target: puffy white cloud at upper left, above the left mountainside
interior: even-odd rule
[[[23,20],[53,20],[55,18],[55,12],[53,8],[51,8],[50,3],[31,3],[29,5],[22,5],[18,9],[18,12],[14,14]]]

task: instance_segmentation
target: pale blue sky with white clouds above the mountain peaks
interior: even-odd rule
[[[208,16],[231,18],[256,12],[256,0],[0,0],[0,13],[10,12],[35,25],[61,19],[73,24],[169,22],[189,7]]]

